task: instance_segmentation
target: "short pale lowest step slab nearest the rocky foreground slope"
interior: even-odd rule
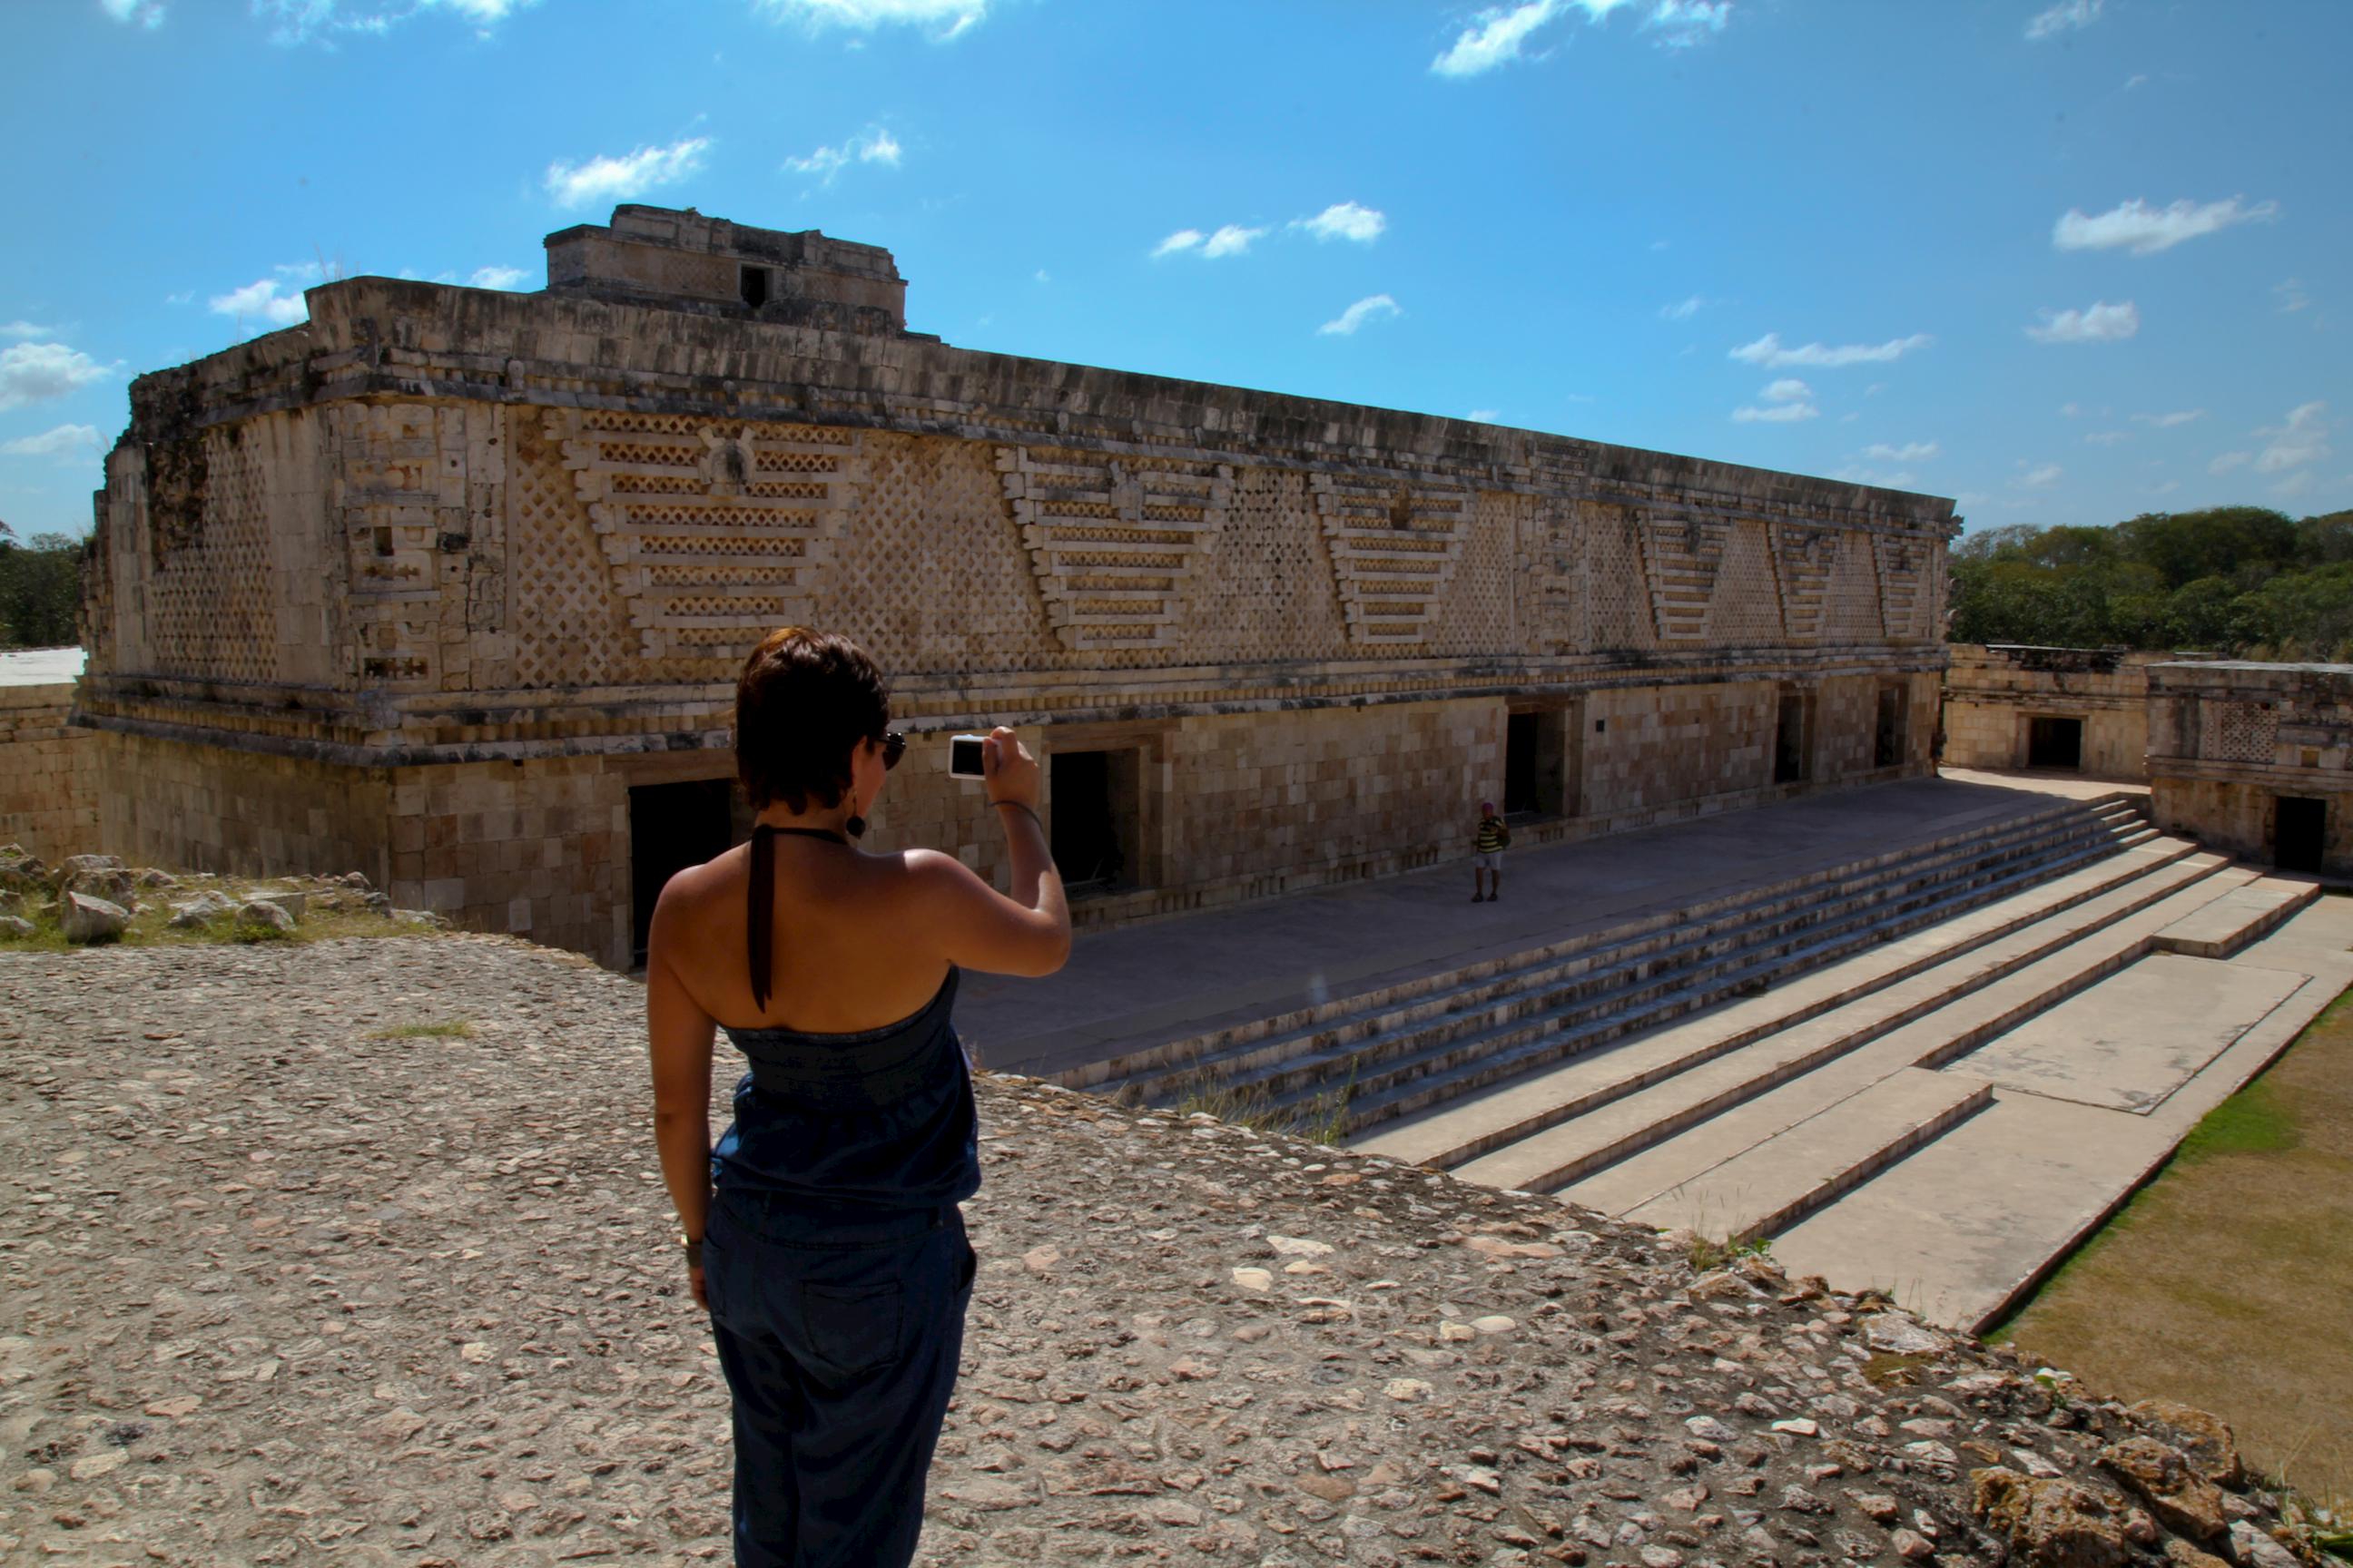
[[[1718,1241],[1777,1237],[1988,1105],[1991,1084],[1901,1067],[1642,1204],[1607,1213]],[[1602,1208],[1584,1185],[1560,1197]]]

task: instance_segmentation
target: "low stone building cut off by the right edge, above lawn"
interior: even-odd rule
[[[2167,832],[2353,875],[2353,665],[2148,665],[2148,792]]]

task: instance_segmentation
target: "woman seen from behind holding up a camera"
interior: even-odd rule
[[[986,799],[1012,896],[854,839],[904,738],[849,639],[784,628],[736,684],[748,844],[671,877],[645,964],[654,1143],[734,1401],[744,1568],[906,1563],[955,1387],[981,1185],[960,969],[1047,976],[1071,912],[1038,762],[998,729]],[[711,1147],[713,1030],[746,1056]]]

